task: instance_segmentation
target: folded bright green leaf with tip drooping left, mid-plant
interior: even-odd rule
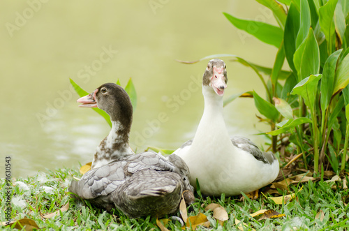
[[[318,91],[318,82],[321,77],[321,74],[306,77],[292,89],[291,94],[302,96],[306,106],[311,110],[315,110],[315,98]]]

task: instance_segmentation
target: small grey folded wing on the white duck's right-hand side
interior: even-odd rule
[[[232,144],[234,144],[235,147],[238,147],[239,149],[252,154],[258,161],[272,164],[276,160],[274,154],[272,154],[271,152],[260,151],[260,149],[246,137],[234,136],[231,138],[231,140]]]

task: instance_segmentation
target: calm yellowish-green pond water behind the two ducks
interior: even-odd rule
[[[1,169],[12,158],[13,177],[90,162],[109,126],[96,112],[77,107],[69,78],[88,92],[132,77],[138,94],[131,147],[176,149],[195,134],[203,110],[200,81],[210,54],[237,54],[272,66],[276,48],[238,31],[222,12],[276,24],[252,0],[222,1],[1,1]],[[255,90],[251,69],[231,59],[224,97]],[[191,86],[191,87],[190,87]],[[194,86],[194,87],[193,87]],[[176,100],[179,98],[179,100]],[[158,122],[165,114],[165,121]],[[262,147],[267,131],[253,99],[225,107],[231,135]],[[0,177],[4,176],[1,170]]]

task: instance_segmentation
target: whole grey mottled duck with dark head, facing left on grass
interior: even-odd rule
[[[174,213],[183,191],[190,191],[186,197],[193,200],[190,173],[179,156],[165,158],[151,151],[134,154],[128,146],[132,105],[124,89],[103,84],[78,102],[105,110],[112,131],[98,146],[93,169],[80,181],[73,180],[70,192],[107,211],[117,207],[132,218]]]

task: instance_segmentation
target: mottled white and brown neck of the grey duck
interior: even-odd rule
[[[111,161],[121,160],[125,156],[134,154],[128,144],[130,128],[131,124],[128,126],[120,121],[112,121],[112,130],[97,147],[91,168],[101,167]]]

